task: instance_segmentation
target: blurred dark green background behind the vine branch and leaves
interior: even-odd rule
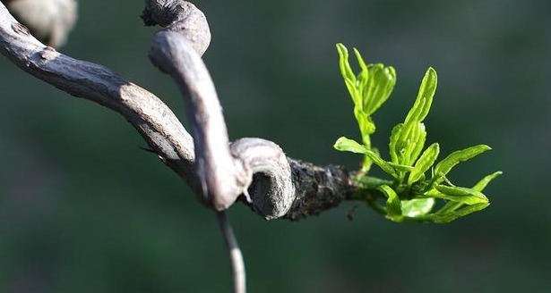
[[[250,292],[536,292],[551,288],[551,2],[547,0],[195,1],[211,24],[204,60],[232,139],[271,139],[294,158],[355,169],[331,146],[357,138],[335,43],[393,65],[375,114],[386,152],[428,66],[439,88],[427,142],[443,155],[494,150],[454,170],[496,170],[492,205],[451,224],[396,224],[357,208],[301,222],[229,216]],[[168,76],[147,59],[143,1],[82,1],[65,54],[148,88],[185,120]],[[0,58],[0,292],[228,292],[215,217],[116,113]]]

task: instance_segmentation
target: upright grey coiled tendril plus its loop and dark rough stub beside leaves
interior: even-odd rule
[[[194,136],[194,176],[200,187],[196,192],[205,205],[222,211],[241,194],[250,194],[247,201],[265,219],[297,220],[350,196],[355,186],[343,168],[290,160],[276,144],[260,138],[229,145],[214,84],[193,48],[194,39],[202,37],[189,34],[208,28],[193,4],[149,1],[143,19],[168,28],[153,38],[150,59],[176,81],[185,97]]]

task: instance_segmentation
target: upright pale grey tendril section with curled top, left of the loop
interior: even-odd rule
[[[220,101],[201,59],[208,45],[205,40],[211,37],[206,19],[185,1],[149,1],[144,15],[146,22],[168,25],[153,37],[150,59],[176,81],[184,96],[194,137],[197,194],[203,204],[223,211],[233,205],[250,180],[243,165],[230,155]]]

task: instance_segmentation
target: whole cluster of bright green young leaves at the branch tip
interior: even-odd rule
[[[396,83],[396,73],[390,66],[366,64],[359,52],[354,49],[360,72],[355,74],[349,65],[349,53],[345,46],[337,44],[340,56],[340,73],[354,102],[354,115],[359,126],[362,143],[350,138],[339,138],[335,149],[364,155],[362,170],[357,182],[365,188],[359,198],[366,199],[376,211],[393,222],[406,220],[417,222],[452,222],[469,213],[478,212],[489,205],[482,193],[487,184],[502,172],[495,172],[480,180],[473,188],[454,186],[447,174],[461,162],[480,155],[491,148],[486,145],[468,147],[445,157],[436,163],[440,146],[434,143],[425,148],[426,129],[423,121],[433,104],[437,86],[437,75],[433,68],[426,71],[421,81],[418,96],[409,110],[406,119],[396,125],[391,133],[389,150],[390,161],[386,161],[371,146],[370,135],[375,132],[375,122],[371,115],[383,105],[392,93]],[[367,176],[369,167],[375,163],[392,180],[382,180]],[[426,172],[432,168],[430,178]],[[373,195],[386,198],[384,205],[375,202]],[[371,195],[365,197],[365,195]],[[433,212],[437,200],[443,205]]]

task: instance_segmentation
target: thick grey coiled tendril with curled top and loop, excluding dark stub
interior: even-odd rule
[[[239,139],[229,147],[218,95],[201,53],[193,48],[198,39],[210,39],[204,15],[185,1],[149,1],[143,19],[146,24],[167,27],[155,34],[150,59],[176,81],[185,96],[202,202],[221,211],[250,192],[248,201],[264,218],[287,213],[295,188],[281,148],[260,138]],[[205,31],[206,37],[199,35]]]

